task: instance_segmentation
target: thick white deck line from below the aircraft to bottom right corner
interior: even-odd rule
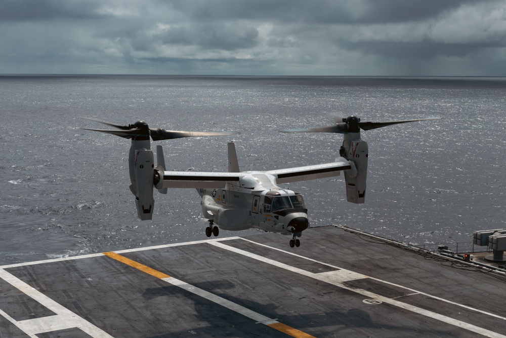
[[[252,241],[248,241],[248,242],[255,243],[255,242],[252,242]],[[500,334],[500,333],[497,333],[497,332],[494,332],[494,331],[490,331],[490,330],[487,330],[485,328],[482,328],[482,327],[479,327],[479,326],[476,326],[476,325],[473,325],[473,324],[469,324],[469,323],[463,322],[463,321],[458,320],[458,319],[447,317],[447,316],[444,316],[442,314],[439,314],[439,313],[436,313],[436,312],[433,312],[433,311],[425,310],[425,309],[422,309],[422,308],[419,308],[419,307],[416,307],[416,306],[413,306],[413,305],[409,305],[409,304],[406,304],[406,303],[403,303],[403,302],[399,302],[399,301],[396,301],[395,299],[388,298],[388,297],[385,297],[385,296],[382,296],[382,295],[379,295],[379,294],[375,294],[375,293],[370,292],[370,291],[366,291],[366,290],[363,290],[363,289],[357,289],[357,288],[351,288],[351,287],[348,287],[345,284],[343,284],[343,281],[340,281],[339,279],[338,280],[329,279],[329,278],[325,278],[324,276],[322,276],[322,275],[328,275],[328,273],[315,274],[315,273],[312,273],[312,272],[309,272],[309,271],[306,271],[306,270],[302,270],[302,269],[299,269],[299,268],[294,268],[292,266],[286,265],[286,264],[278,262],[276,260],[269,259],[269,258],[266,258],[264,256],[260,256],[260,255],[257,255],[255,253],[251,253],[249,251],[245,251],[245,250],[242,250],[242,249],[237,249],[237,248],[234,248],[234,247],[229,246],[227,244],[223,244],[221,242],[213,242],[213,243],[209,243],[209,244],[215,245],[215,246],[217,246],[219,248],[222,248],[222,249],[225,249],[225,250],[228,250],[228,251],[232,251],[232,252],[235,252],[235,253],[238,253],[238,254],[242,254],[242,255],[250,257],[250,258],[257,259],[259,261],[262,261],[264,263],[276,266],[276,267],[281,268],[281,269],[285,269],[285,270],[288,270],[288,271],[291,271],[291,272],[294,272],[294,273],[298,273],[298,274],[303,275],[303,276],[307,276],[307,277],[310,277],[310,278],[317,279],[317,280],[322,281],[322,282],[326,282],[326,283],[329,283],[329,284],[332,284],[332,285],[335,285],[335,286],[339,286],[339,287],[341,287],[343,289],[346,289],[346,290],[349,290],[349,291],[353,291],[353,292],[362,294],[362,295],[366,296],[367,298],[374,298],[374,299],[377,299],[378,301],[381,301],[383,303],[394,305],[394,306],[397,306],[399,308],[402,308],[402,309],[405,309],[405,310],[409,310],[409,311],[412,311],[414,313],[417,313],[417,314],[420,314],[420,315],[424,315],[424,316],[427,316],[427,317],[430,317],[430,318],[442,321],[442,322],[447,323],[447,324],[451,324],[451,325],[454,325],[454,326],[457,326],[457,327],[461,327],[461,328],[467,329],[469,331],[472,331],[472,332],[475,332],[475,333],[478,333],[478,334],[481,334],[481,335],[485,335],[487,337],[506,338],[506,335],[503,335],[503,334]],[[255,243],[255,244],[257,244],[257,243]],[[265,247],[269,247],[269,246],[267,246],[265,244],[261,244],[261,245],[265,246]],[[272,249],[275,249],[275,250],[278,250],[278,251],[283,251],[283,250],[276,249],[276,248],[272,248]],[[283,251],[283,252],[289,253],[288,251]],[[301,257],[303,257],[303,256],[301,256]],[[313,259],[311,259],[311,260],[313,260]],[[342,269],[342,270],[345,270],[345,269]],[[331,273],[340,273],[340,271],[331,272]],[[356,273],[354,273],[354,274],[356,274]],[[368,276],[365,276],[365,275],[363,275],[363,276],[364,277],[368,277]]]

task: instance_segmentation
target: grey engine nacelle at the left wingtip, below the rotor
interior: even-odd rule
[[[137,216],[142,220],[153,216],[153,172],[154,159],[151,149],[135,149],[134,163],[131,166],[132,185],[130,190],[135,195]]]

